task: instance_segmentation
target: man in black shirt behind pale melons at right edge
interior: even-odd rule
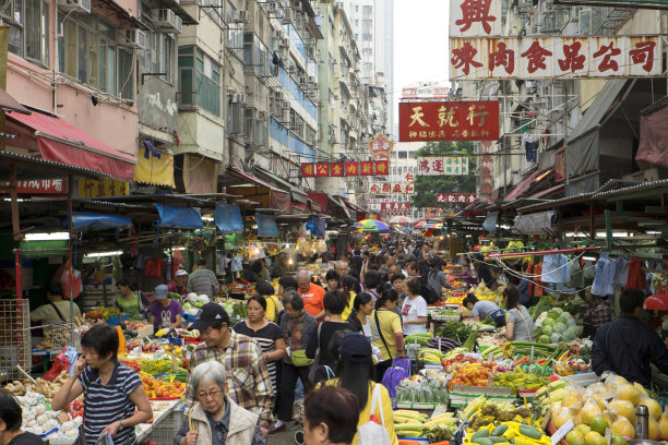
[[[592,347],[592,365],[596,374],[613,371],[629,382],[644,386],[652,383],[649,362],[668,374],[668,349],[659,336],[639,318],[644,300],[641,290],[625,289],[619,299],[622,314],[596,332]]]

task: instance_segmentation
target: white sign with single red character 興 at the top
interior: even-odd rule
[[[501,34],[501,0],[450,0],[450,37]]]

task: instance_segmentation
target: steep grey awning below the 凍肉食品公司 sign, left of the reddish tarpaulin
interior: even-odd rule
[[[606,82],[570,134],[565,154],[569,178],[598,169],[598,130],[621,105],[622,100],[618,98],[629,81],[625,91],[630,92],[635,80],[615,79]]]

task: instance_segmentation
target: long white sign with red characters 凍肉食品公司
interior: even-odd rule
[[[663,70],[658,36],[451,38],[450,62],[454,80],[648,77]]]

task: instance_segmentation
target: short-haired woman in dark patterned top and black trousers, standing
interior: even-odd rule
[[[318,322],[303,310],[303,300],[295,290],[286,292],[283,298],[283,308],[285,313],[281,317],[281,334],[287,345],[287,354],[283,358],[281,368],[278,421],[270,430],[270,434],[285,431],[285,423],[293,419],[297,378],[301,380],[306,392],[312,387],[309,382],[310,365],[298,361],[295,352],[300,351],[300,357],[306,359],[306,348],[310,336],[314,335],[318,329]]]

